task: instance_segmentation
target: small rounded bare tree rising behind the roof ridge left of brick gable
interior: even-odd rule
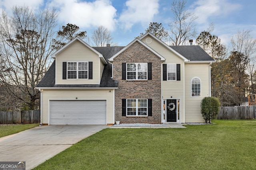
[[[96,47],[104,47],[107,44],[112,44],[113,37],[108,29],[101,25],[93,31],[91,39]]]

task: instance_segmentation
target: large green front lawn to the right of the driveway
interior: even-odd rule
[[[256,169],[256,120],[182,129],[104,129],[36,170]]]

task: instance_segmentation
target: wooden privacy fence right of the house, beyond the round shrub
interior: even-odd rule
[[[217,119],[255,119],[256,105],[252,106],[223,106]]]

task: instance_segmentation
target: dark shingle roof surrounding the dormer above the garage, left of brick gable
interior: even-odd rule
[[[108,61],[110,57],[115,55],[124,47],[92,47]],[[107,62],[108,63],[108,62]],[[112,65],[107,64],[104,66],[100,84],[55,84],[55,61],[39,82],[36,88],[117,88],[118,81],[112,80]]]

